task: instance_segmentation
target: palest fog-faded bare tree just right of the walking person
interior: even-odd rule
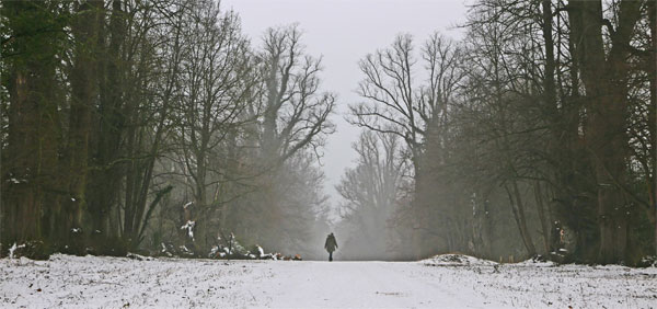
[[[341,215],[348,231],[343,248],[353,259],[392,256],[389,219],[401,196],[408,168],[396,135],[365,130],[354,144],[357,165],[345,171],[337,192],[344,198]]]

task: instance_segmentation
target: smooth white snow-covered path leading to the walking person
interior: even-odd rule
[[[272,307],[464,307],[428,277],[417,276],[408,263],[303,262],[278,268],[267,298]],[[287,267],[291,266],[291,267]],[[419,265],[414,265],[422,267]],[[287,270],[286,270],[287,268]]]

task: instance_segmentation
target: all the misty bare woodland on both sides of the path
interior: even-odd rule
[[[0,254],[312,259],[330,227],[347,259],[657,254],[655,1],[476,0],[460,41],[372,46],[337,221],[319,162],[339,99],[302,25],[246,37],[211,0],[1,5]]]

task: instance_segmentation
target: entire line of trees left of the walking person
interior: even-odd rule
[[[313,254],[336,96],[298,26],[254,44],[211,0],[1,10],[1,254]]]

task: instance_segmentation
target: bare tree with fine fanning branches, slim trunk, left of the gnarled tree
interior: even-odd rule
[[[222,157],[231,131],[243,124],[241,115],[255,85],[249,43],[233,12],[221,13],[211,1],[194,3],[183,34],[186,46],[181,76],[184,79],[176,126],[177,159],[194,196],[196,244],[209,249],[206,231],[212,210],[221,206],[217,196],[222,169],[212,162]],[[182,222],[184,224],[184,222]]]

